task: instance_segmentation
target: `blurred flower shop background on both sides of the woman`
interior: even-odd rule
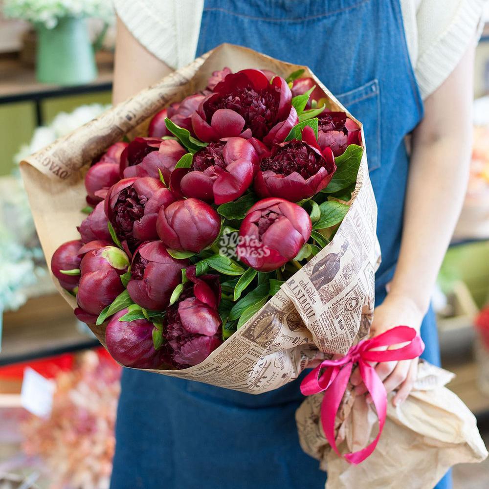
[[[114,41],[108,0],[0,0],[0,489],[109,487],[120,367],[57,293],[18,164],[109,107]],[[449,387],[489,445],[489,23],[469,189],[433,302]],[[457,466],[454,484],[487,489],[489,462]]]

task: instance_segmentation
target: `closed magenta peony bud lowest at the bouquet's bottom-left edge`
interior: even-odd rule
[[[155,325],[147,319],[119,321],[127,312],[123,309],[115,313],[105,330],[107,350],[111,356],[120,364],[134,368],[157,369],[171,362],[168,347],[163,345],[161,350],[155,350]]]

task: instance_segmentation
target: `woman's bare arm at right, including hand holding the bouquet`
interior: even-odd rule
[[[419,331],[429,308],[467,189],[475,45],[474,36],[454,71],[424,102],[424,118],[413,132],[400,255],[387,297],[374,311],[374,336],[398,325]],[[417,364],[415,359],[377,365],[387,392],[399,389],[395,405],[411,391]],[[358,373],[352,381],[361,382]]]

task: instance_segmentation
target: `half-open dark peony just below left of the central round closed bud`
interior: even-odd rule
[[[188,260],[172,258],[161,241],[143,243],[134,253],[127,291],[142,308],[164,310],[187,266]]]

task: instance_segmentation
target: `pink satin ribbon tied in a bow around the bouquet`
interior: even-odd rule
[[[373,351],[375,348],[405,342],[409,343],[396,350]],[[321,404],[321,423],[326,439],[340,457],[353,465],[363,462],[374,451],[384,427],[387,414],[387,394],[375,368],[367,362],[409,360],[420,356],[423,350],[424,343],[416,330],[408,326],[397,326],[374,338],[360,341],[356,346],[350,348],[343,358],[324,360],[321,365],[304,378],[301,383],[301,392],[305,396],[324,391]],[[343,456],[339,453],[334,440],[334,420],[345,394],[354,363],[358,363],[360,375],[377,409],[378,435],[365,448]]]

